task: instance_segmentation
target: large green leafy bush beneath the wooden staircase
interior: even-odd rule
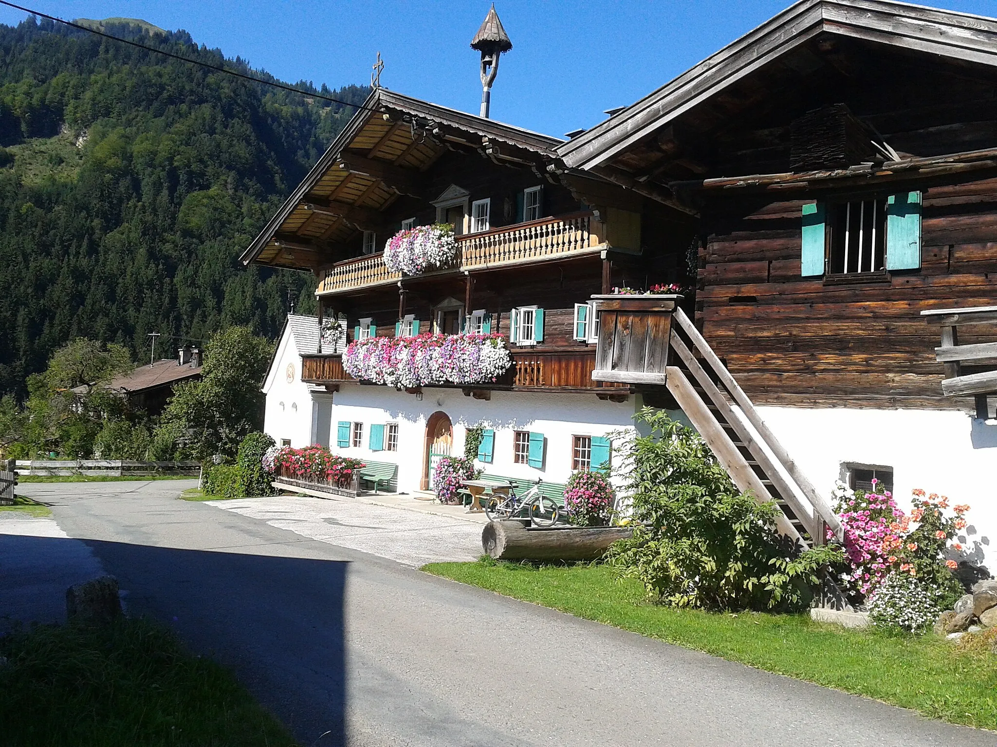
[[[609,561],[639,580],[649,597],[676,607],[713,610],[798,609],[818,573],[841,559],[838,548],[802,551],[776,533],[775,503],[741,493],[698,433],[667,413],[637,413],[646,436],[621,443],[633,496],[633,537]]]

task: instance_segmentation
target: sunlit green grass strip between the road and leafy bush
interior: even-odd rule
[[[760,669],[997,729],[997,655],[934,635],[845,630],[806,615],[710,614],[648,604],[605,567],[434,563],[428,573]]]

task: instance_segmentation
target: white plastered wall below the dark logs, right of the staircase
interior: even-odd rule
[[[758,409],[825,497],[841,463],[854,462],[892,467],[893,493],[905,511],[914,488],[968,503],[964,557],[997,571],[997,425],[944,410]]]

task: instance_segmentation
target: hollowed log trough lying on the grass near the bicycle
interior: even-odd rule
[[[482,530],[482,547],[496,560],[592,561],[631,533],[629,527],[540,529],[521,521],[491,521]]]

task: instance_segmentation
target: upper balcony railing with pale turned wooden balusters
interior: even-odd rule
[[[457,274],[593,254],[605,245],[605,227],[591,212],[541,218],[458,236],[454,267],[427,275]],[[402,273],[391,272],[384,264],[383,252],[377,252],[338,262],[323,270],[316,294],[323,296],[391,285],[403,277]]]

